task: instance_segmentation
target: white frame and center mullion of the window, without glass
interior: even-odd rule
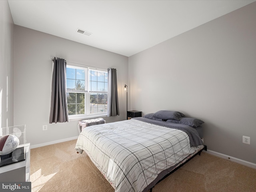
[[[89,77],[89,70],[97,70],[100,72],[108,72],[107,69],[97,69],[97,68],[92,68],[92,67],[88,67],[88,66],[81,66],[81,65],[76,65],[76,64],[68,64],[67,63],[67,68],[80,68],[83,70],[86,70],[85,72],[85,83],[86,83],[86,88],[87,90],[85,91],[80,91],[80,90],[68,90],[66,89],[66,92],[76,92],[76,93],[84,93],[84,112],[85,114],[77,114],[77,115],[68,115],[69,120],[82,120],[82,119],[90,119],[90,118],[96,118],[96,117],[106,117],[107,116],[107,112],[100,112],[100,113],[94,113],[94,114],[90,114],[90,88],[89,88],[89,84],[90,84],[90,77]],[[106,92],[98,92],[98,93],[108,93]],[[86,107],[87,106],[87,107]]]

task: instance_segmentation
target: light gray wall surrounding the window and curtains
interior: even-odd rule
[[[53,57],[100,68],[116,68],[120,116],[106,122],[126,119],[128,57],[38,32],[14,28],[14,124],[26,124],[27,142],[44,144],[78,136],[78,120],[49,124]],[[42,126],[48,125],[47,131]]]

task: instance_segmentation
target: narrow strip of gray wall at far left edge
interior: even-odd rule
[[[0,1],[0,128],[13,126],[14,24],[7,1]]]

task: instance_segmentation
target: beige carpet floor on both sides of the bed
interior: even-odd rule
[[[31,149],[32,192],[114,192],[76,140]],[[153,192],[256,192],[256,169],[207,153],[196,156]]]

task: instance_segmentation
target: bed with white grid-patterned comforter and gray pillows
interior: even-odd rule
[[[86,127],[75,149],[88,154],[115,192],[152,191],[166,175],[205,149],[203,121],[193,127],[180,123],[189,119],[182,113],[156,114]]]

